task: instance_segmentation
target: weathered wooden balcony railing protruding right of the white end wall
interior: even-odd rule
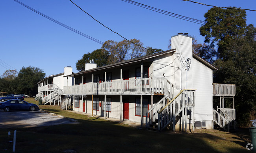
[[[213,83],[213,96],[235,96],[235,84],[216,84]]]

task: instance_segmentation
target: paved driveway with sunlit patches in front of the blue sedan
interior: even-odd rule
[[[53,126],[58,124],[74,124],[67,118],[42,113],[41,111],[10,111],[0,110],[0,128],[21,128]]]

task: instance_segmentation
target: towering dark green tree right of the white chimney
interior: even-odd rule
[[[217,83],[236,84],[236,116],[241,126],[248,126],[250,114],[256,110],[256,28],[246,25],[246,13],[238,9],[211,8],[200,27],[204,42],[217,45],[214,65]]]

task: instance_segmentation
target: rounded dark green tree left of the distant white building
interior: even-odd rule
[[[37,94],[37,82],[45,77],[43,70],[37,67],[22,67],[17,76],[17,90],[20,93],[35,96]]]

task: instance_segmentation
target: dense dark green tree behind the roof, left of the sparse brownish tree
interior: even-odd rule
[[[98,67],[108,65],[108,51],[104,49],[96,49],[92,53],[84,54],[83,57],[76,62],[76,69],[78,71],[85,70],[85,63],[89,63],[90,60],[95,60]]]

